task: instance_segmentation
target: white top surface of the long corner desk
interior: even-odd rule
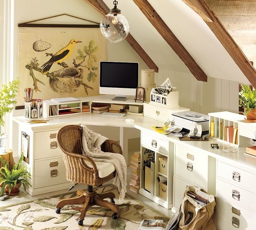
[[[125,122],[125,119],[132,118],[134,122]],[[141,131],[145,131],[152,135],[159,137],[175,144],[182,145],[183,147],[188,148],[191,151],[200,151],[205,154],[212,156],[214,158],[229,162],[229,164],[237,165],[242,164],[248,170],[254,171],[256,173],[256,157],[248,156],[244,154],[244,147],[234,147],[228,145],[219,140],[209,139],[209,141],[180,141],[178,137],[168,137],[163,134],[157,133],[153,130],[152,126],[162,126],[163,122],[157,121],[151,118],[133,116],[126,114],[122,118],[112,118],[112,117],[102,117],[98,113],[87,113],[87,114],[77,114],[73,116],[62,116],[50,118],[47,123],[42,124],[29,124],[24,117],[15,117],[13,118],[18,124],[26,125],[31,127],[33,131],[41,131],[46,129],[52,129],[54,127],[59,127],[59,125],[69,125],[69,124],[86,124],[86,125],[97,125],[97,126],[112,126],[112,127],[126,127],[126,128],[137,128]],[[212,149],[210,144],[217,143],[219,149]],[[226,150],[226,151],[225,151]]]

